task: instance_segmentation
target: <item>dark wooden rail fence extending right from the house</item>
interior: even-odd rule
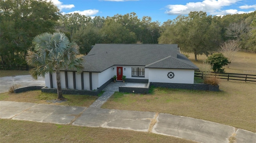
[[[250,71],[256,73],[256,71]],[[207,74],[206,74],[207,73]],[[226,80],[241,80],[241,81],[252,81],[256,82],[256,74],[237,74],[237,73],[224,73],[224,72],[204,72],[195,71],[194,76],[203,78],[205,75],[215,76],[216,78]]]

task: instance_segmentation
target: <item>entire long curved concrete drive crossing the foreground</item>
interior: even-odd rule
[[[181,137],[200,143],[228,143],[232,135],[235,135],[236,143],[256,141],[256,133],[250,131],[211,121],[155,112],[0,101],[0,118],[129,129]]]

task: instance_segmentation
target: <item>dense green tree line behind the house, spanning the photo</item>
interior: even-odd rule
[[[44,32],[63,32],[86,55],[95,43],[176,43],[183,52],[212,54],[225,42],[256,51],[256,11],[220,16],[190,12],[160,24],[136,13],[112,17],[62,15],[46,0],[0,0],[0,57],[2,64],[26,64],[34,51],[32,39]]]

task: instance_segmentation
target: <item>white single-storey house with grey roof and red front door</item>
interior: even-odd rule
[[[117,75],[127,82],[193,84],[198,67],[180,53],[177,44],[96,44],[84,56],[84,72],[60,71],[61,86],[102,90]],[[47,87],[56,88],[56,74],[46,74]]]

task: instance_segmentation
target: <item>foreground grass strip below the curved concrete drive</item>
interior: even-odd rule
[[[0,119],[2,143],[196,143],[148,132]]]

